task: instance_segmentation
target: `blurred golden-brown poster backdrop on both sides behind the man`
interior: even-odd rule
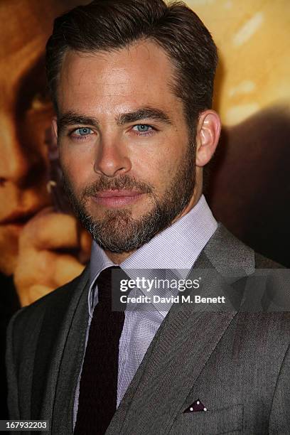
[[[90,252],[75,220],[49,208],[53,109],[43,63],[53,18],[81,3],[88,1],[0,0],[1,373],[12,313],[79,274]],[[237,237],[290,266],[289,0],[187,3],[220,52],[214,108],[224,127],[207,198]],[[4,419],[5,380],[0,391]]]

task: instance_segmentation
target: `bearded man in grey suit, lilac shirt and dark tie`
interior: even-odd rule
[[[181,3],[95,0],[55,21],[53,125],[95,242],[80,277],[11,321],[12,419],[47,419],[51,434],[289,432],[289,314],[259,312],[274,299],[284,308],[281,275],[259,279],[255,268],[277,266],[218,225],[202,195],[220,134],[216,63],[210,33]],[[116,275],[136,282],[140,269],[144,280],[152,269],[188,276],[201,295],[168,298],[168,313],[129,297],[125,314],[112,310]]]

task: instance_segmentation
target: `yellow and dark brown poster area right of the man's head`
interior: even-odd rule
[[[290,2],[189,0],[220,53],[222,137],[208,182],[215,217],[290,266]]]

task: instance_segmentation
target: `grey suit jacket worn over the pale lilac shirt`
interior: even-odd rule
[[[255,267],[273,268],[266,292]],[[171,308],[107,435],[290,434],[290,314],[272,310],[289,286],[276,267],[220,225],[191,274],[203,274],[200,294],[224,295],[227,306]],[[73,433],[88,279],[85,269],[12,318],[6,355],[11,419],[48,419],[50,434]],[[184,413],[197,399],[208,411]]]

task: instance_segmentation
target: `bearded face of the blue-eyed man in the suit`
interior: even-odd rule
[[[138,248],[195,201],[194,138],[173,73],[149,41],[63,60],[60,161],[77,214],[108,251]]]

